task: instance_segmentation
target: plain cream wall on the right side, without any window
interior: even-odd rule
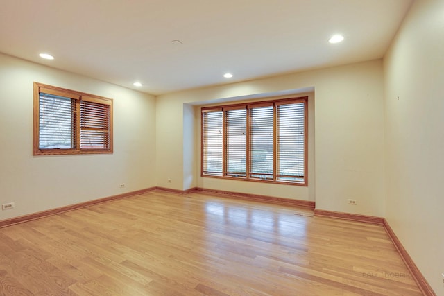
[[[384,71],[386,219],[444,295],[444,1],[413,3]]]

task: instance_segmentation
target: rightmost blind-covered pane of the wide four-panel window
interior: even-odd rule
[[[278,106],[278,180],[304,180],[304,114],[304,103]]]

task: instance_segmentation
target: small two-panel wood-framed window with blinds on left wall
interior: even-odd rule
[[[34,82],[34,155],[112,153],[112,99]]]

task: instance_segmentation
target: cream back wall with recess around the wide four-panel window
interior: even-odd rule
[[[309,187],[200,178],[199,123],[184,105],[282,96],[314,89],[314,170]],[[318,209],[384,216],[384,112],[382,61],[294,73],[232,85],[221,85],[157,97],[157,185],[184,190],[188,186],[316,200]],[[190,143],[189,141],[194,141]],[[194,146],[196,165],[185,150]],[[187,153],[187,155],[191,155]],[[314,173],[314,172],[316,173]],[[185,175],[184,173],[187,172]],[[172,182],[168,183],[168,179]],[[316,196],[315,196],[316,193]],[[357,199],[356,206],[347,199]]]

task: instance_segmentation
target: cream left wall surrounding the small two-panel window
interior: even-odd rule
[[[113,98],[114,153],[33,156],[33,82]],[[0,220],[156,186],[153,96],[1,54],[0,86]]]

